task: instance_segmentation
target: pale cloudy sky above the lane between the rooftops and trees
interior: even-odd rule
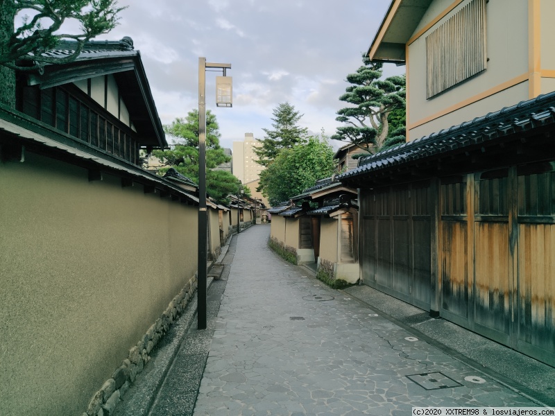
[[[339,125],[345,76],[361,65],[388,0],[119,0],[119,26],[97,39],[133,38],[162,123],[198,107],[198,57],[231,63],[233,107],[215,105],[207,72],[207,108],[219,121],[221,145],[246,132],[264,138],[272,110],[288,101],[300,124],[332,135]],[[386,75],[404,67],[386,65]],[[339,142],[334,147],[339,147]]]

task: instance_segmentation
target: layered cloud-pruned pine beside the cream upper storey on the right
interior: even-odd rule
[[[339,100],[351,104],[337,112],[337,121],[347,123],[337,128],[332,139],[355,144],[368,153],[394,146],[405,140],[405,77],[391,76],[382,80],[382,63],[370,62],[347,76],[349,87]],[[395,129],[389,128],[389,122]],[[402,127],[402,128],[401,128]]]

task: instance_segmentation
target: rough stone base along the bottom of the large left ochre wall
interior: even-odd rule
[[[189,300],[193,297],[197,287],[196,275],[181,289],[180,293],[169,302],[168,307],[160,318],[154,322],[137,345],[129,350],[128,357],[121,366],[105,381],[101,389],[94,393],[89,401],[87,411],[82,416],[107,416],[114,413],[114,409],[129,389],[130,383],[142,372],[144,365],[150,361],[151,351],[167,333],[169,327],[185,311]]]

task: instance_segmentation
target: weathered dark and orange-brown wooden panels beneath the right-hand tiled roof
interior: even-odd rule
[[[364,284],[555,364],[555,163],[364,191],[361,214]]]

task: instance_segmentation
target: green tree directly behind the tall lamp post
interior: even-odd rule
[[[153,150],[153,155],[165,164],[160,169],[164,174],[173,167],[198,184],[198,110],[191,110],[185,118],[178,118],[164,131],[173,137],[174,145],[169,150]],[[218,202],[228,202],[230,193],[237,193],[239,180],[227,171],[214,171],[216,166],[229,162],[230,157],[220,147],[219,125],[210,110],[206,112],[206,189]]]

